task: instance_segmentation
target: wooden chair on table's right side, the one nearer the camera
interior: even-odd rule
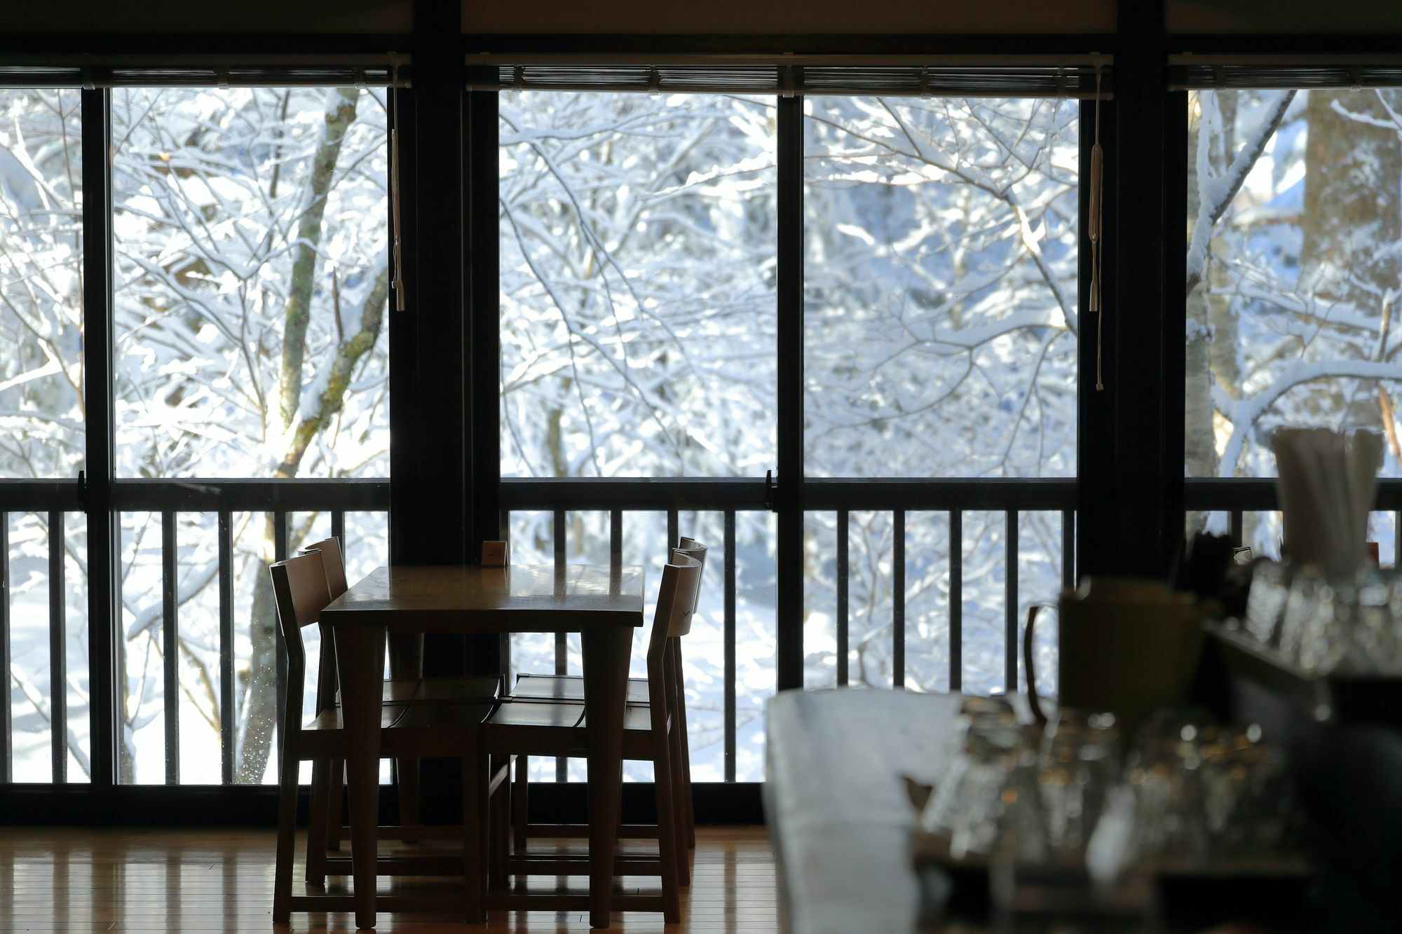
[[[670,715],[673,683],[673,655],[669,642],[680,639],[691,628],[697,593],[701,585],[701,561],[684,551],[673,551],[672,561],[662,571],[662,588],[658,593],[658,611],[652,623],[652,637],[648,642],[649,704],[628,704],[625,707],[622,757],[651,762],[655,774],[658,806],[658,858],[620,858],[620,871],[628,875],[660,875],[662,896],[629,896],[622,905],[635,910],[662,910],[667,923],[679,921],[680,877],[679,867],[688,857],[686,839],[679,834],[679,820],[673,802],[672,754],[676,743],[674,731],[681,721]],[[478,754],[517,756],[522,767],[526,756],[586,756],[585,705],[571,700],[517,700],[508,697],[482,722]],[[482,760],[485,764],[485,759]],[[519,774],[519,773],[517,773]],[[587,857],[561,857],[541,854],[541,858],[519,853],[508,860],[508,872],[515,875],[582,875],[589,872]],[[510,905],[510,896],[506,905]],[[529,903],[536,906],[540,899]]]

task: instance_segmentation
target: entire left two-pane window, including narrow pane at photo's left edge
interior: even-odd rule
[[[345,498],[325,509],[317,491],[223,515],[186,494],[388,474],[386,95],[123,87],[109,101],[115,304],[84,309],[80,112],[104,97],[0,91],[0,478],[63,481],[0,512],[3,762],[14,781],[91,769],[77,471],[84,327],[111,311],[119,781],[271,781],[285,684],[265,567],[335,529],[358,576],[386,560],[386,517]]]

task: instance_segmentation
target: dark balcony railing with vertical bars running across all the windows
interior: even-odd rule
[[[726,781],[736,777],[736,515],[770,509],[768,488],[761,480],[503,480],[502,527],[510,529],[513,512],[547,512],[552,516],[554,557],[565,561],[568,554],[568,523],[571,512],[607,512],[608,548],[620,555],[624,547],[624,512],[659,512],[666,515],[667,539],[676,540],[680,513],[690,510],[718,512],[722,516],[719,543],[722,586],[722,645],[723,645],[723,763]],[[963,618],[962,592],[965,583],[963,519],[967,512],[1002,513],[1005,550],[1004,575],[1004,676],[1005,684],[1018,683],[1019,581],[1018,581],[1018,524],[1019,513],[1054,512],[1061,517],[1061,583],[1075,579],[1075,481],[1074,480],[809,480],[803,485],[805,512],[836,515],[837,613],[836,613],[836,680],[850,683],[850,516],[854,512],[889,512],[892,536],[892,634],[894,686],[904,682],[906,661],[906,520],[907,513],[945,513],[948,520],[948,581],[949,581],[949,687],[962,687]],[[283,558],[289,550],[289,513],[320,512],[331,517],[331,533],[345,539],[348,512],[386,513],[390,485],[386,480],[121,480],[114,489],[118,512],[149,512],[160,516],[161,529],[161,645],[165,704],[165,760],[167,783],[179,781],[178,728],[178,668],[175,641],[179,602],[177,593],[177,527],[181,513],[213,513],[217,516],[219,548],[219,710],[220,710],[220,773],[223,783],[234,780],[234,585],[233,585],[233,515],[241,512],[272,513],[276,530],[275,555]],[[1189,480],[1185,491],[1187,510],[1216,510],[1228,513],[1232,536],[1239,541],[1242,516],[1246,512],[1269,512],[1277,508],[1272,480]],[[1381,484],[1378,512],[1394,513],[1398,546],[1402,546],[1402,480]],[[10,513],[38,513],[48,524],[49,572],[49,684],[67,683],[64,651],[64,532],[84,522],[76,517],[84,512],[84,496],[73,481],[3,481],[0,482],[0,663],[8,673],[11,666],[11,581],[10,581]],[[503,532],[505,533],[505,532]],[[1402,554],[1402,547],[1396,554]],[[1043,596],[1043,595],[1039,595]],[[280,655],[280,647],[279,647]],[[568,645],[557,638],[554,662],[557,672],[565,672]],[[67,778],[70,729],[66,691],[50,690],[46,717],[52,735],[52,776],[55,783]],[[0,781],[13,781],[13,738],[10,710],[11,690],[7,683],[0,691]],[[279,707],[285,687],[279,679]]]

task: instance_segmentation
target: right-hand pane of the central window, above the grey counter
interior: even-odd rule
[[[806,98],[809,477],[1075,475],[1078,112],[1064,100]],[[808,515],[806,683],[837,682],[845,533],[850,684],[949,690],[952,665],[963,690],[1008,687],[1008,537],[1019,603],[1049,599],[1061,515],[1009,529],[1002,512],[966,512],[956,541],[948,513],[911,512],[899,529],[857,496],[845,530],[833,512]]]

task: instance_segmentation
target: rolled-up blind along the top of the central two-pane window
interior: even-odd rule
[[[880,97],[1064,97],[1094,100],[1094,66],[920,65],[499,65],[472,90],[655,94],[861,94]],[[1101,95],[1113,91],[1102,67]]]

